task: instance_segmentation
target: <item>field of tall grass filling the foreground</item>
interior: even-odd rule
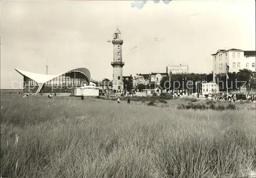
[[[255,168],[255,104],[199,111],[169,102],[2,94],[1,176],[242,177]]]

